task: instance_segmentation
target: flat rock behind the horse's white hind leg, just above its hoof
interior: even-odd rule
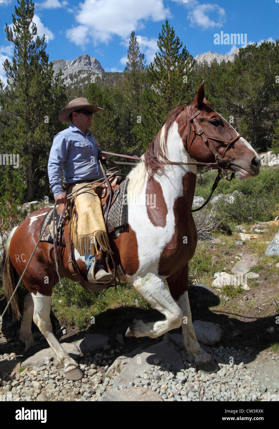
[[[75,344],[62,343],[61,346],[74,360],[79,358],[79,351]],[[40,366],[48,365],[52,361],[54,365],[58,364],[51,347],[48,347],[38,351],[33,356],[30,356],[24,360],[24,362],[21,363],[21,368],[38,368]]]

